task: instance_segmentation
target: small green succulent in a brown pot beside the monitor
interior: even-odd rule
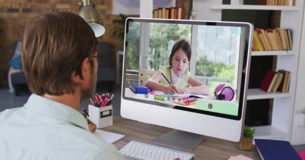
[[[255,133],[255,129],[251,129],[249,127],[244,127],[243,137],[239,142],[240,150],[251,150],[252,149],[252,141],[253,134]]]

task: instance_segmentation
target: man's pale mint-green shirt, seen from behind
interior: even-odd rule
[[[0,112],[0,159],[123,159],[88,130],[77,110],[32,94],[24,107]]]

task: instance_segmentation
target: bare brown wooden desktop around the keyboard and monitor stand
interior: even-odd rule
[[[114,143],[114,145],[120,149],[130,140],[154,144],[150,142],[151,139],[167,133],[172,129],[154,124],[142,123],[135,120],[114,117],[113,125],[105,127],[103,130],[125,134],[123,139]],[[238,145],[238,142],[206,136],[200,145],[198,145],[196,149],[191,152],[196,155],[195,159],[229,159],[230,156],[236,156],[239,154],[245,155],[252,159],[260,159],[255,147],[253,147],[252,151],[241,151],[238,149]]]

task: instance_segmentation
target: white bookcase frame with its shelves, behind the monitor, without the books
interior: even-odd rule
[[[277,56],[276,70],[285,69],[291,71],[290,88],[288,93],[264,92],[259,88],[248,89],[248,100],[273,98],[271,125],[255,126],[254,138],[278,139],[291,141],[291,130],[294,113],[294,99],[296,90],[296,78],[298,58],[300,52],[300,37],[303,16],[303,0],[296,0],[296,5],[234,5],[222,4],[223,0],[194,0],[193,9],[197,10],[197,20],[221,21],[223,9],[239,10],[281,10],[280,27],[290,28],[293,31],[292,50],[253,51],[251,56]],[[293,18],[292,18],[293,17]],[[255,27],[255,26],[254,26]],[[305,40],[304,40],[305,41]],[[284,56],[286,55],[286,56]],[[298,135],[300,136],[300,135]]]

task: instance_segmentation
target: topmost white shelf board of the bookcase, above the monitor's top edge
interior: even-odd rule
[[[243,9],[243,10],[299,10],[296,6],[280,6],[280,5],[211,5],[211,9]]]

